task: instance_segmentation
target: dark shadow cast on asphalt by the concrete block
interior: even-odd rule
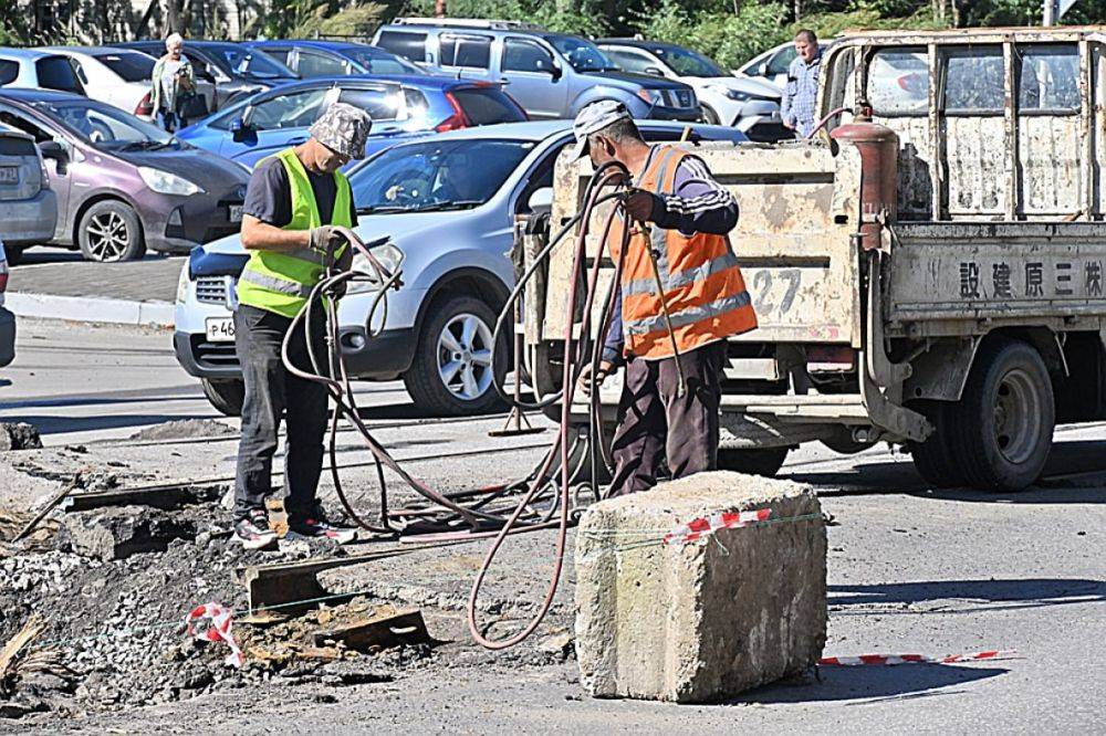
[[[820,667],[822,682],[803,685],[768,685],[751,691],[732,703],[817,703],[947,695],[950,693],[932,691],[988,680],[1006,672],[1009,670],[994,666],[949,664]]]

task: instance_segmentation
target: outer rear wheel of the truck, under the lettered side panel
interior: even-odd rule
[[[985,344],[948,420],[970,485],[1021,491],[1036,481],[1056,424],[1052,379],[1041,355],[1015,340]]]

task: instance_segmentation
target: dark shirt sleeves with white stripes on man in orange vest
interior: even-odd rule
[[[714,181],[714,177],[701,158],[684,157],[676,167],[672,189],[671,194],[654,194],[653,214],[649,220],[660,228],[679,230],[685,235],[697,232],[724,235],[738,224],[737,200]],[[624,343],[619,288],[615,297],[611,329],[603,343],[603,359],[618,362]]]

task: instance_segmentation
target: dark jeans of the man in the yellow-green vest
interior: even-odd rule
[[[314,350],[325,371],[323,311],[315,311],[315,315]],[[242,441],[238,445],[234,482],[236,519],[252,508],[264,507],[265,497],[272,490],[273,454],[282,414],[288,430],[284,509],[290,517],[302,519],[315,507],[315,491],[323,466],[327,395],[323,386],[296,378],[284,367],[281,343],[291,325],[288,317],[244,304],[234,313],[234,348],[246,381]],[[296,367],[310,370],[311,359],[302,327],[293,335],[289,357]]]

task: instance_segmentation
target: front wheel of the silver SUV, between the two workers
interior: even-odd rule
[[[471,296],[452,296],[432,307],[415,361],[404,383],[415,404],[434,416],[474,414],[499,408],[492,380],[507,375],[507,336],[492,365],[495,314]]]

